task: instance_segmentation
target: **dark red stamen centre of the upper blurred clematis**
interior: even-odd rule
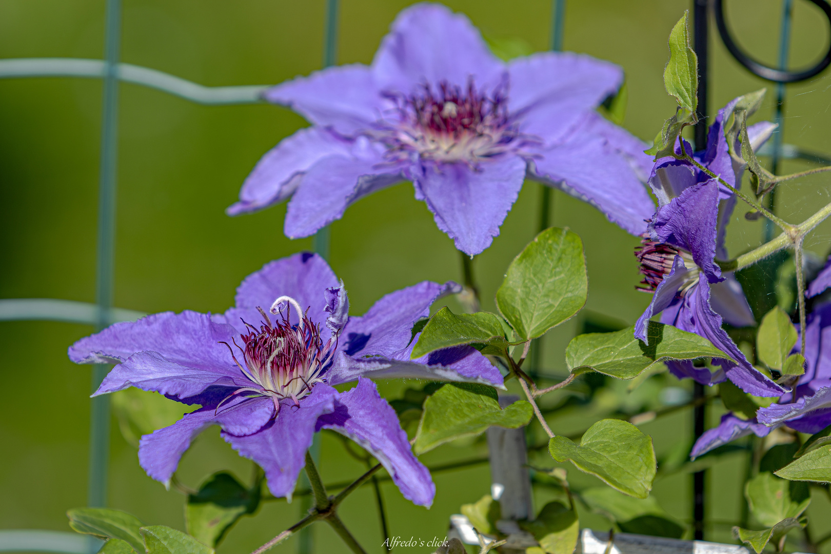
[[[466,90],[443,81],[435,93],[425,85],[411,96],[388,95],[396,103],[399,121],[382,131],[387,156],[403,160],[416,154],[420,159],[475,165],[518,148],[522,137],[509,118],[505,88],[499,86],[488,97],[473,81]]]

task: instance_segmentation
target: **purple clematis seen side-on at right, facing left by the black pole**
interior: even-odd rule
[[[709,130],[707,150],[694,157],[738,187],[744,167],[735,166],[722,129],[733,105],[735,100],[719,110]],[[774,127],[767,122],[750,127],[755,148],[770,136]],[[692,151],[689,143],[683,144],[686,152]],[[676,152],[681,152],[681,140]],[[696,166],[671,157],[656,161],[649,184],[659,208],[647,224],[636,256],[645,277],[638,289],[654,294],[637,321],[635,336],[647,341],[647,323],[661,313],[662,323],[706,337],[738,362],[715,360],[721,369],[711,373],[689,360],[670,361],[667,365],[673,375],[691,377],[704,385],[730,379],[752,395],[782,395],[785,390],[750,365],[721,328],[722,321],[733,326],[755,325],[739,282],[732,275],[722,275],[715,263],[716,255],[726,257],[725,226],[735,206],[735,195]]]

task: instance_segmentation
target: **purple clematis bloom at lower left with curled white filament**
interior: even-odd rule
[[[69,357],[117,364],[95,395],[135,386],[201,404],[141,438],[141,467],[158,481],[168,483],[196,435],[218,424],[238,453],[262,466],[274,496],[291,498],[312,435],[333,429],[383,463],[405,498],[429,506],[430,473],[366,377],[502,386],[499,371],[469,346],[410,360],[416,321],[435,300],[459,291],[455,282],[421,282],[350,317],[343,282],[321,257],[300,253],[246,277],[236,307],[224,314],[168,311],[116,323],[77,341]],[[354,380],[352,390],[333,388]]]

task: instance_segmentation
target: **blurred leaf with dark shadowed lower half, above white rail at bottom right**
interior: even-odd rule
[[[593,487],[580,493],[580,498],[593,512],[616,522],[622,532],[671,538],[680,538],[684,533],[684,527],[653,497],[632,498],[613,488]]]

